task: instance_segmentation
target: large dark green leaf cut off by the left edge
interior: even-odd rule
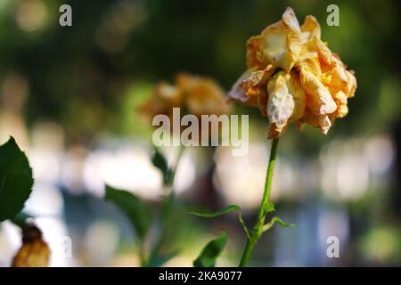
[[[0,222],[12,218],[24,208],[33,182],[27,156],[10,137],[0,146]]]

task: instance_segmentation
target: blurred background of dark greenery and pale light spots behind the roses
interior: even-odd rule
[[[72,6],[71,28],[59,25],[61,4]],[[326,24],[329,4],[340,7],[340,27]],[[298,225],[268,232],[252,265],[401,265],[399,1],[2,0],[0,142],[12,135],[29,156],[36,183],[26,211],[38,216],[51,265],[139,265],[126,217],[102,199],[104,183],[160,199],[152,129],[135,108],[180,71],[228,90],[245,70],[247,38],[286,6],[300,22],[315,15],[358,87],[328,135],[293,127],[282,136],[272,198],[277,215]],[[250,114],[249,154],[185,151],[177,208],[236,203],[251,225],[266,174],[266,118],[234,112]],[[175,148],[163,151],[174,160]],[[171,229],[179,254],[167,265],[192,265],[222,229],[229,240],[217,265],[237,265],[245,238],[234,214],[180,216],[180,230]],[[340,239],[339,258],[326,255],[330,236]],[[18,229],[1,224],[0,265],[19,245]]]

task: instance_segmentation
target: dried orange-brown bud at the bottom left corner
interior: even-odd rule
[[[34,224],[22,230],[22,246],[12,260],[12,267],[46,267],[50,249],[42,238],[42,232]]]

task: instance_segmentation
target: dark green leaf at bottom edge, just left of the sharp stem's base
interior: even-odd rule
[[[227,241],[227,232],[222,232],[215,240],[210,240],[209,243],[202,249],[201,255],[193,261],[194,267],[214,267],[217,256],[225,248]]]

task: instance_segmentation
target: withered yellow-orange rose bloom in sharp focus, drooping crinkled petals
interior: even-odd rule
[[[287,8],[282,20],[248,40],[248,70],[229,100],[258,107],[270,122],[268,138],[279,137],[291,122],[327,134],[335,118],[347,115],[356,77],[320,37],[315,17],[307,16],[299,27]]]

